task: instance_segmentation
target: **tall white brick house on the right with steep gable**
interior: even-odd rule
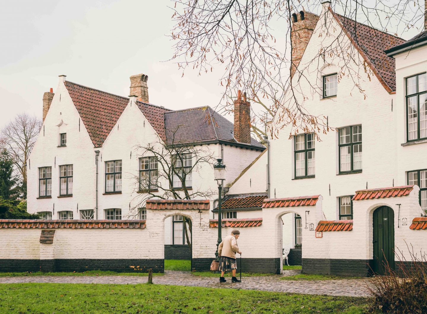
[[[290,126],[283,128],[277,139],[270,140],[269,151],[231,184],[225,200],[231,207],[225,210],[235,211],[229,215],[243,219],[262,217],[263,201],[257,195],[294,200],[304,195],[322,195],[325,221],[348,220],[353,224],[355,191],[418,185],[421,207],[414,210],[425,215],[426,31],[405,42],[333,12],[328,1],[322,6],[320,16],[303,11],[292,16],[292,61],[296,66],[292,82],[298,101],[313,116],[325,116],[333,130],[319,134],[316,140],[313,134],[301,130],[289,138]],[[345,52],[345,58],[338,55],[338,49]],[[385,49],[389,50],[384,52]],[[355,83],[360,84],[363,93]],[[390,202],[393,204],[387,206],[395,212],[397,227],[401,217],[398,218],[400,205],[395,203],[399,201]],[[371,237],[373,228],[377,232],[372,225],[374,209],[375,206],[369,209],[368,220],[363,222]],[[303,244],[302,229],[307,227],[307,217],[291,213],[281,219],[283,245]],[[330,261],[346,256],[356,265],[360,261],[354,256],[367,249],[363,261],[375,258],[372,242],[369,249],[357,245],[354,239],[348,247],[355,250],[352,257],[337,253],[329,257]],[[304,255],[308,253],[302,250],[303,269]],[[312,257],[313,254],[305,259],[306,270],[322,263]]]

